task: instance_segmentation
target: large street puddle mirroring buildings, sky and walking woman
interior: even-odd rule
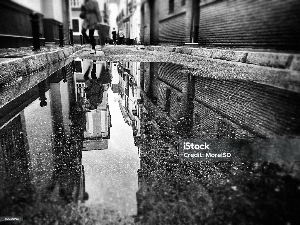
[[[181,70],[76,59],[11,96],[0,108],[1,215],[26,224],[45,215],[43,224],[293,223],[297,176],[264,163],[179,162],[178,139],[297,138],[299,94]]]

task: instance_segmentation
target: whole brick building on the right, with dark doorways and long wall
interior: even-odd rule
[[[141,44],[299,50],[297,0],[145,0]]]

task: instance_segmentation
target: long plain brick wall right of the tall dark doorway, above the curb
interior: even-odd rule
[[[298,0],[200,2],[200,46],[300,50]]]

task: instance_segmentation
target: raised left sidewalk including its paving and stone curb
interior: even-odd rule
[[[42,46],[41,51],[32,51],[32,47],[0,49],[0,87],[61,61],[83,47]]]

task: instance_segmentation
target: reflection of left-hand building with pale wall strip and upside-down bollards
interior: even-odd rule
[[[3,188],[30,189],[35,200],[86,199],[84,113],[78,98],[70,63],[1,108]]]

